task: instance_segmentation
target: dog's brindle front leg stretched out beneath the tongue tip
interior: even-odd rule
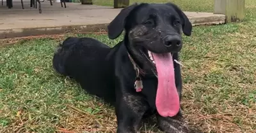
[[[188,122],[180,115],[174,117],[157,115],[157,122],[160,129],[166,133],[202,133],[195,127],[190,127]]]

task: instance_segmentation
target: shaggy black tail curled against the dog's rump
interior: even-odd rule
[[[60,74],[68,76],[65,71],[65,60],[67,59],[70,53],[70,47],[72,47],[72,38],[67,38],[63,43],[56,48],[52,59],[52,66]]]

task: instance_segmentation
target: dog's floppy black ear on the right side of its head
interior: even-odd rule
[[[182,20],[182,31],[186,36],[190,36],[192,32],[192,24],[189,22],[188,17],[180,10],[178,6],[173,3],[166,3],[168,6],[172,6],[174,10],[179,14]]]

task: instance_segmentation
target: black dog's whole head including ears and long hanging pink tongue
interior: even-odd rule
[[[158,113],[177,115],[180,102],[172,53],[182,48],[182,32],[191,35],[188,17],[172,3],[132,4],[108,25],[109,38],[118,38],[124,29],[124,44],[132,59],[145,73],[157,76]]]

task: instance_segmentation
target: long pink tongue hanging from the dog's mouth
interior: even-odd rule
[[[175,87],[174,67],[171,53],[152,53],[156,62],[158,85],[156,109],[161,116],[175,116],[179,112],[180,101]]]

